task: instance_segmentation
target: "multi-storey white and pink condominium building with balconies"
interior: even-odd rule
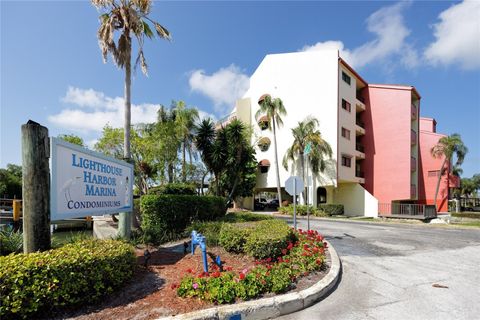
[[[291,129],[311,116],[333,156],[323,172],[306,179],[309,203],[343,204],[347,215],[376,216],[379,204],[433,202],[443,159],[434,159],[430,149],[442,135],[435,120],[420,118],[420,94],[412,86],[369,84],[337,50],[267,55],[227,118],[254,128],[256,192],[277,187],[273,133],[268,119],[255,117],[264,94],[281,98],[287,110],[276,134],[282,190],[288,177],[302,175],[298,161],[287,170],[281,165],[293,142]],[[447,180],[440,189],[439,211],[446,211]],[[251,207],[252,199],[243,205]]]

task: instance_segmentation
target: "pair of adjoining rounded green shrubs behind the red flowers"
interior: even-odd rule
[[[219,244],[227,251],[246,253],[263,259],[278,257],[295,236],[281,220],[264,220],[254,224],[224,224],[220,230]]]

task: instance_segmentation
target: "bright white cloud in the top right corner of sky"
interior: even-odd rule
[[[463,69],[480,68],[480,2],[465,0],[440,13],[436,40],[424,56],[433,65],[459,64]]]

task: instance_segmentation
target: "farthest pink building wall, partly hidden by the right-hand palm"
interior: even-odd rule
[[[437,187],[438,175],[436,175],[443,163],[444,157],[434,158],[431,149],[437,144],[443,134],[436,133],[436,121],[430,118],[420,118],[419,137],[419,188],[418,202],[434,204],[435,190]],[[448,187],[449,172],[445,172],[440,180],[440,187],[437,196],[438,212],[448,211]]]

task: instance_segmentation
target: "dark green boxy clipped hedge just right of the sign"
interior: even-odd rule
[[[145,241],[161,243],[166,233],[181,233],[193,221],[209,221],[226,213],[225,199],[212,196],[145,195],[141,198]]]

